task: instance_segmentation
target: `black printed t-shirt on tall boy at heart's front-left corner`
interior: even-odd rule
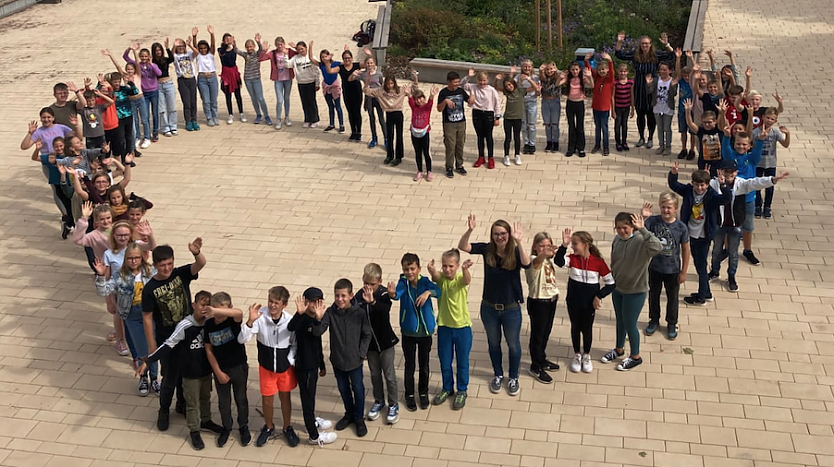
[[[158,336],[170,335],[174,326],[192,312],[191,281],[197,280],[191,274],[191,265],[175,268],[171,276],[160,281],[151,279],[142,289],[142,311],[153,313]],[[157,342],[161,344],[161,342]]]

